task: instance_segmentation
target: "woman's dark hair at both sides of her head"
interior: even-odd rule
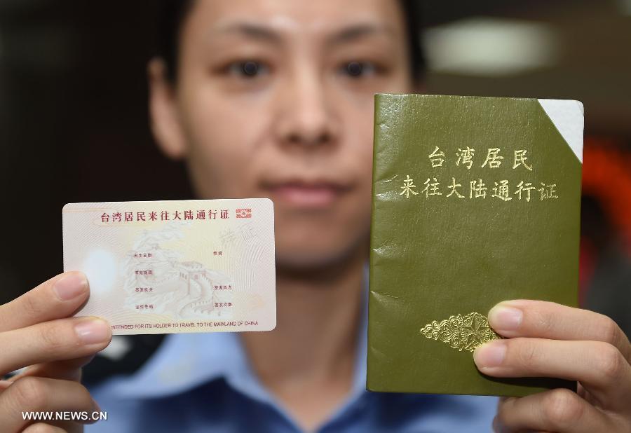
[[[194,0],[161,1],[160,22],[158,23],[158,49],[156,55],[162,57],[167,68],[167,78],[175,82],[177,78],[177,52],[182,22],[189,13]],[[425,53],[421,42],[421,0],[398,0],[407,27],[409,59],[412,77],[421,81],[426,71]]]

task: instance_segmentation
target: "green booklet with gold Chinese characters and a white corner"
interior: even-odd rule
[[[522,396],[573,387],[482,375],[487,312],[576,305],[583,106],[376,95],[367,388]]]

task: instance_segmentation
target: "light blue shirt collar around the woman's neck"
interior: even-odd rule
[[[344,407],[366,389],[367,267],[364,281],[353,387]],[[119,397],[151,399],[182,394],[218,378],[249,397],[277,405],[252,370],[235,333],[171,334],[139,371],[112,385]]]

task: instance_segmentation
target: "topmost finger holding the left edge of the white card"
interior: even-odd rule
[[[0,332],[68,317],[88,299],[88,293],[88,280],[83,273],[57,275],[0,305]]]

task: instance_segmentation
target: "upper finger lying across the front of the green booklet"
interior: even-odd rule
[[[604,341],[616,346],[631,362],[631,344],[609,317],[597,312],[545,301],[505,301],[489,311],[489,324],[498,334],[550,340]]]

